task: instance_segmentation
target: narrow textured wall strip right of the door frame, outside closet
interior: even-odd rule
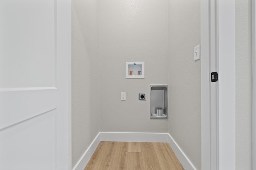
[[[252,169],[251,1],[236,0],[236,169]]]

